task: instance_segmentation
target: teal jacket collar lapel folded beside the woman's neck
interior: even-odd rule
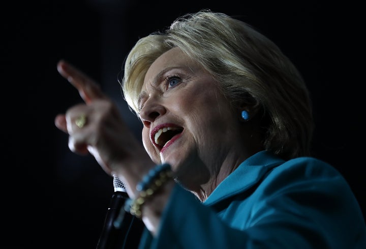
[[[283,162],[285,161],[279,156],[264,150],[248,157],[217,186],[204,204],[213,205],[249,189],[269,170]]]

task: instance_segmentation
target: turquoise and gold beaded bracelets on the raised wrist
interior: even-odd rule
[[[152,196],[165,182],[173,177],[170,164],[163,163],[151,169],[142,180],[136,185],[139,195],[134,200],[128,200],[125,204],[125,210],[132,215],[141,218],[141,207],[146,198]]]

